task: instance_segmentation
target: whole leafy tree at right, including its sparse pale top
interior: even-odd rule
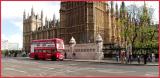
[[[153,8],[137,7],[135,4],[127,8],[127,17],[118,20],[121,36],[132,45],[132,48],[158,47],[158,27],[151,25]]]

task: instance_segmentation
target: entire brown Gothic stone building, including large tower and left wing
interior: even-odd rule
[[[54,9],[54,8],[53,8]],[[117,24],[119,19],[127,18],[125,3],[118,5],[107,2],[61,2],[60,21],[44,19],[31,9],[31,15],[23,14],[23,49],[29,51],[32,40],[62,38],[68,44],[73,36],[77,44],[93,43],[100,34],[105,44],[122,44],[122,28]],[[45,21],[45,24],[43,24]]]

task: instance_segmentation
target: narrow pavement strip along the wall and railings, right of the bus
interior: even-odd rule
[[[121,62],[117,62],[114,59],[105,59],[105,60],[86,60],[86,59],[64,59],[66,61],[77,61],[77,62],[95,62],[95,63],[108,63],[108,64],[119,64],[119,65],[136,65],[136,66],[158,66],[158,62],[147,62],[147,64],[143,64],[141,62],[138,64],[137,61],[133,61],[131,64],[122,64]]]

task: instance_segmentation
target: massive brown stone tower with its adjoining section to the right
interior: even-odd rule
[[[113,2],[110,6],[107,2],[61,2],[60,38],[64,39],[66,44],[72,36],[77,43],[92,43],[100,34],[105,44],[121,44],[121,28],[116,23],[120,15],[127,15],[124,2],[121,9],[119,12],[118,5],[113,6]]]

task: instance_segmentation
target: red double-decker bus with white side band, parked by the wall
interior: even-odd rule
[[[64,42],[62,39],[43,39],[43,40],[32,40],[30,49],[30,58],[34,59],[51,59],[51,60],[63,60],[64,55]]]

